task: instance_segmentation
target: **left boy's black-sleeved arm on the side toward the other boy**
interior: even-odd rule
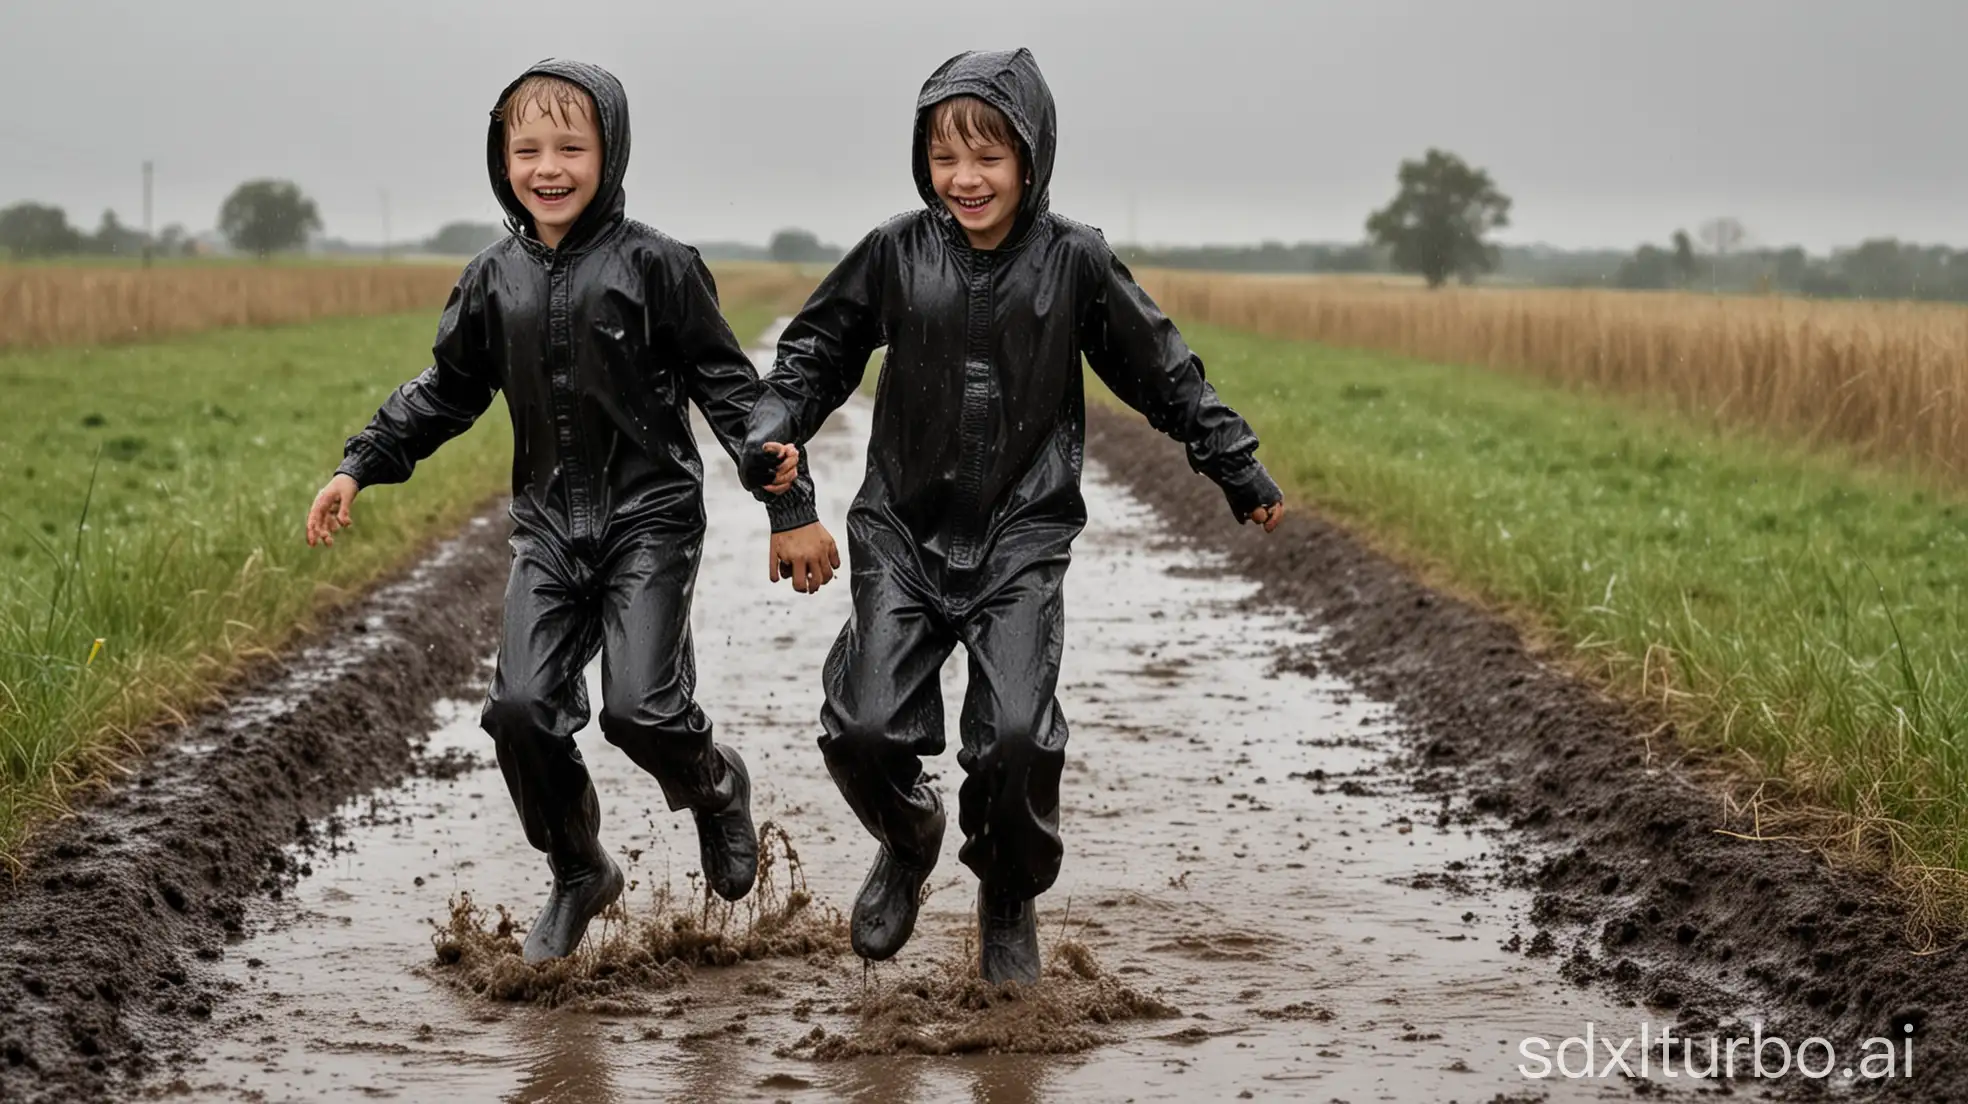
[[[685,388],[697,409],[705,411],[718,445],[738,464],[738,480],[766,504],[771,531],[817,523],[813,476],[799,449],[785,439],[748,441],[752,413],[766,390],[718,309],[716,279],[697,250],[659,287],[667,287],[659,333],[673,335]]]

